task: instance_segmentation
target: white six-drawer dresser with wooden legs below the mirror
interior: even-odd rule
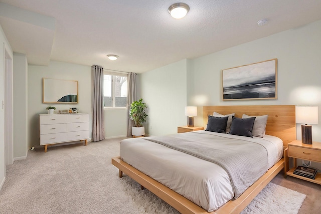
[[[89,114],[40,114],[40,145],[89,139]]]

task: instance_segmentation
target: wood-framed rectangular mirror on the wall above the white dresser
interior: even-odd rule
[[[42,79],[43,103],[78,103],[78,81]]]

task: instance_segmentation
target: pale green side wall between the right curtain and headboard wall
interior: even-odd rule
[[[186,125],[187,60],[140,74],[138,99],[147,104],[145,132],[149,135],[177,133]]]

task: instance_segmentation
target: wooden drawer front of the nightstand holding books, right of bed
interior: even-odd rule
[[[317,149],[310,149],[310,148],[303,148],[303,147],[289,145],[288,156],[303,159],[303,160],[321,162],[321,150],[317,150]]]

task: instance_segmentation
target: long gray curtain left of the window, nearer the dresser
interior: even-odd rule
[[[100,141],[105,139],[103,67],[98,65],[93,65],[91,67],[91,73],[92,73],[92,83],[93,83],[92,84],[92,87],[93,87],[92,141]]]

